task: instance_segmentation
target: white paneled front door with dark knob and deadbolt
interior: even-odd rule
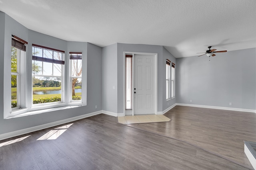
[[[134,55],[134,115],[156,114],[155,62],[155,55]]]

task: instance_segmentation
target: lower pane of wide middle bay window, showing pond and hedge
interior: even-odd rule
[[[61,78],[33,77],[33,104],[61,101]]]

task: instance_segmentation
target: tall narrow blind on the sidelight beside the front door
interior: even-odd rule
[[[125,109],[132,109],[132,55],[125,56]]]

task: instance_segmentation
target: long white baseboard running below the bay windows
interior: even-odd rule
[[[44,125],[38,125],[38,126],[34,126],[34,127],[29,127],[29,128],[26,128],[26,129],[20,129],[18,131],[13,131],[13,132],[0,134],[0,140],[8,139],[10,137],[15,137],[15,136],[18,136],[18,135],[23,135],[23,134],[26,134],[26,133],[31,133],[31,132],[34,132],[34,131],[39,131],[39,130],[42,130],[42,129],[46,129],[46,128],[49,128],[49,127],[61,125],[61,124],[72,122],[72,121],[76,121],[76,120],[79,120],[79,119],[84,119],[86,117],[98,115],[100,113],[102,113],[102,110],[96,111],[96,112],[93,112],[93,113],[88,113],[88,114],[85,114],[85,115],[71,117],[71,118],[68,118],[68,119],[60,120],[60,121],[54,121],[54,122],[51,122],[51,123],[46,123]]]

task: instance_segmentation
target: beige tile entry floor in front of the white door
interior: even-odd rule
[[[164,115],[128,115],[118,117],[118,123],[125,125],[135,124],[135,123],[155,123],[155,122],[166,122],[171,121],[168,117]]]

